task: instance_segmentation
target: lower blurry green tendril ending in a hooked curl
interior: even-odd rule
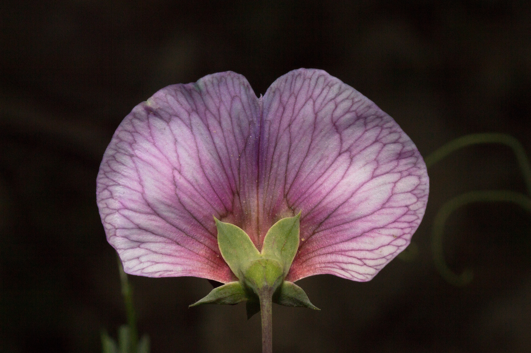
[[[444,223],[450,214],[459,207],[474,202],[512,202],[520,205],[523,209],[531,212],[531,198],[524,194],[513,191],[495,190],[495,191],[471,191],[452,198],[442,205],[433,221],[432,228],[432,251],[435,267],[439,270],[441,276],[450,284],[464,286],[472,280],[472,270],[466,268],[462,274],[456,275],[444,261],[442,236],[444,233]]]

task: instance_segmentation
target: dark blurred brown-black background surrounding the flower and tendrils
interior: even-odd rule
[[[101,156],[123,117],[157,89],[218,71],[256,94],[306,67],[372,99],[428,156],[474,132],[531,152],[529,2],[4,1],[0,5],[0,351],[98,352],[125,323],[114,250],[96,206]],[[320,307],[273,308],[276,352],[531,351],[531,215],[478,203],[447,223],[447,283],[431,225],[451,197],[527,193],[511,150],[490,144],[430,169],[426,215],[408,261],[371,282],[297,284]],[[413,249],[413,247],[411,248]],[[413,249],[414,250],[414,249]],[[188,305],[201,278],[130,276],[152,353],[259,352],[245,306]]]

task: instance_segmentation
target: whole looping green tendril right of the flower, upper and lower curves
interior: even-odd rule
[[[430,168],[436,162],[440,161],[450,153],[479,143],[501,143],[509,146],[515,153],[518,160],[518,166],[524,176],[524,182],[527,187],[529,195],[531,195],[531,166],[529,159],[521,143],[510,135],[503,133],[476,133],[466,135],[464,137],[455,139],[445,144],[430,156],[425,159],[426,167]],[[439,209],[435,216],[432,227],[432,253],[435,267],[439,270],[441,276],[447,280],[448,283],[456,286],[464,286],[472,281],[472,269],[465,269],[460,275],[456,275],[448,267],[444,261],[444,254],[442,248],[442,236],[444,233],[444,223],[450,214],[459,207],[474,203],[474,202],[512,202],[520,205],[523,209],[531,212],[531,198],[520,193],[512,191],[472,191],[461,194],[446,202]]]

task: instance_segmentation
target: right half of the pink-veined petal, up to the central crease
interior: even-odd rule
[[[378,106],[322,70],[280,77],[263,97],[259,219],[302,211],[286,280],[370,280],[422,220],[429,179],[415,144]]]

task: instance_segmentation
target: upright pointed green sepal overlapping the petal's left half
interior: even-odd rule
[[[214,217],[218,229],[218,246],[221,256],[233,273],[242,279],[242,272],[253,260],[261,258],[251,238],[237,225],[219,221]]]

